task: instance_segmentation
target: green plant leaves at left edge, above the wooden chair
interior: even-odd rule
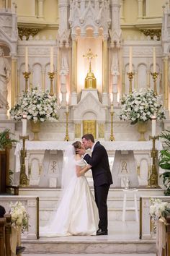
[[[0,150],[3,150],[6,147],[12,147],[13,143],[18,142],[17,140],[12,140],[9,135],[12,135],[10,129],[4,129],[3,132],[0,132]]]

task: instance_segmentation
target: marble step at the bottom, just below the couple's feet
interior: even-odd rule
[[[151,240],[115,240],[112,236],[71,236],[65,239],[40,239],[35,241],[23,241],[22,245],[26,247],[24,253],[27,254],[97,254],[103,255],[150,255],[156,252],[156,242]]]

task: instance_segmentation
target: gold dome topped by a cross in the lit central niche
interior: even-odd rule
[[[85,88],[86,89],[95,89],[95,88],[97,88],[97,80],[94,77],[94,73],[91,72],[91,59],[97,57],[97,54],[93,54],[91,52],[91,48],[89,48],[89,51],[85,55],[83,55],[83,57],[85,57],[89,60],[89,72],[86,74]]]

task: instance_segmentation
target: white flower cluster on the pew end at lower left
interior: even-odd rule
[[[22,233],[28,228],[28,215],[27,211],[22,205],[22,202],[10,203],[10,214],[12,216],[12,227],[14,229],[22,228]]]

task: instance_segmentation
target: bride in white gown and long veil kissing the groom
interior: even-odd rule
[[[56,213],[47,226],[40,226],[40,236],[96,235],[99,214],[84,174],[91,166],[76,153],[82,148],[76,141],[63,155],[62,197]]]

